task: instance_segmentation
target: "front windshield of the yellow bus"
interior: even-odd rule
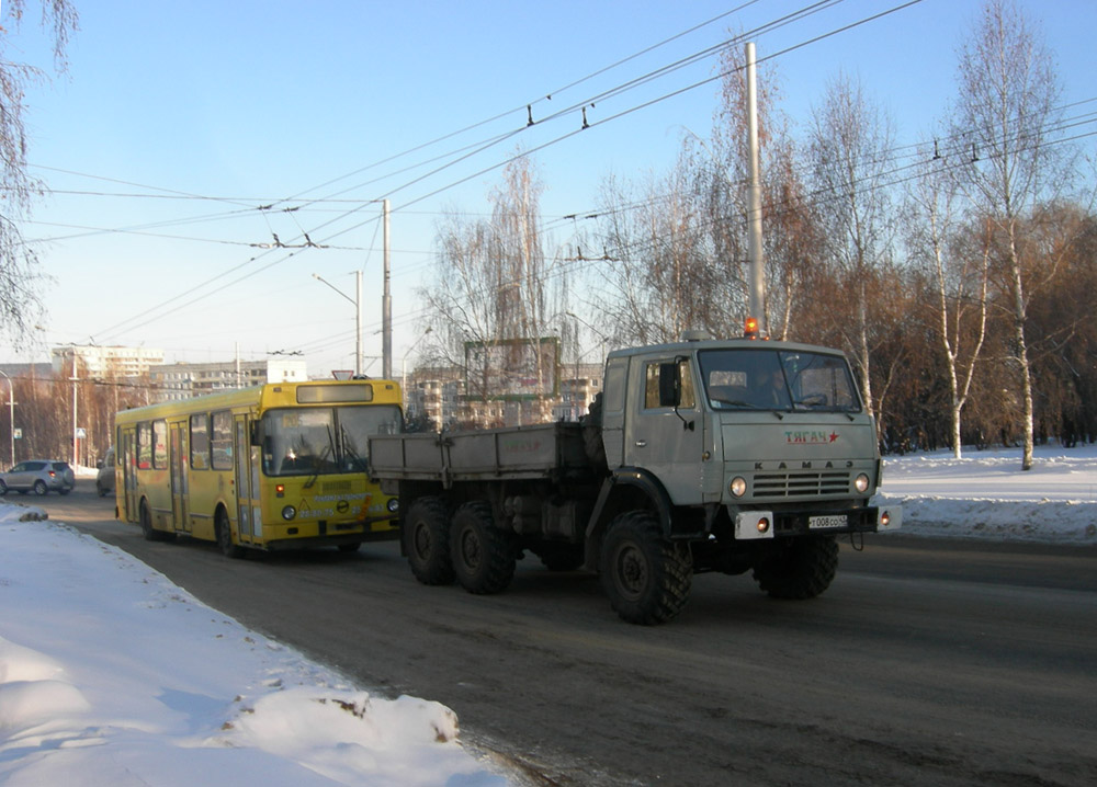
[[[365,472],[371,434],[399,431],[396,406],[292,408],[263,413],[263,472]]]

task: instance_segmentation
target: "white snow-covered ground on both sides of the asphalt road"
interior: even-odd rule
[[[890,458],[900,533],[1097,545],[1097,448]],[[0,502],[0,784],[510,780],[437,703],[371,696],[41,509]],[[24,518],[29,517],[29,518]]]

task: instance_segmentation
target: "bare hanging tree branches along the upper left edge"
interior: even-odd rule
[[[26,169],[26,89],[45,79],[36,66],[12,60],[9,36],[16,32],[26,11],[25,0],[9,0],[0,27],[0,335],[26,337],[42,311],[38,287],[42,275],[37,258],[23,242],[20,225],[31,212],[41,184]],[[77,30],[76,9],[68,0],[43,0],[42,26],[53,37],[54,68],[64,72],[65,47]]]

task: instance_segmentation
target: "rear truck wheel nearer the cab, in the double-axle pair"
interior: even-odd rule
[[[477,594],[506,590],[518,560],[513,537],[495,526],[491,504],[479,500],[463,504],[453,514],[450,555],[457,582]]]

